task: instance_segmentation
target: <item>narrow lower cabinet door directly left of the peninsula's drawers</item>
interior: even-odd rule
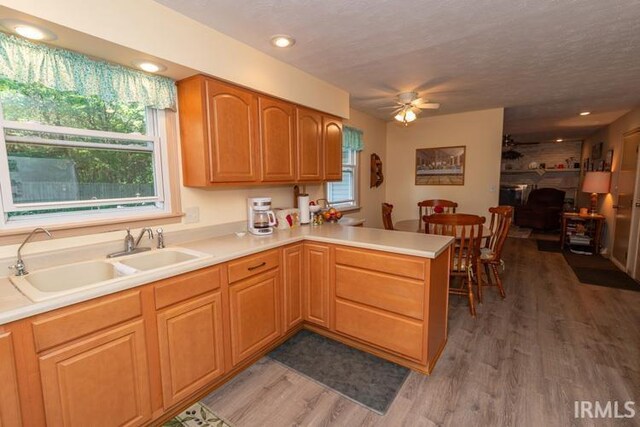
[[[316,325],[329,326],[329,248],[304,245],[304,319]]]

